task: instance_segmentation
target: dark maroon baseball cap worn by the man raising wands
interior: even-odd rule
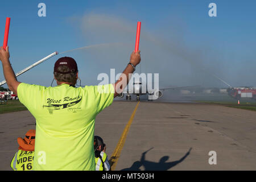
[[[60,72],[57,69],[59,68],[59,66],[61,65],[65,65],[69,68],[68,72]],[[57,73],[61,73],[61,74],[67,74],[67,73],[76,73],[78,72],[77,69],[77,64],[75,59],[73,59],[72,57],[60,57],[60,59],[58,59],[54,65],[54,72]]]

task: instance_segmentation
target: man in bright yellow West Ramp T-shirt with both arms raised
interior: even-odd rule
[[[9,60],[9,47],[0,47],[0,60],[9,89],[36,119],[34,170],[95,170],[93,151],[96,115],[108,107],[126,87],[140,51],[131,53],[117,82],[75,88],[77,64],[71,57],[56,61],[55,87],[30,85],[16,80]]]

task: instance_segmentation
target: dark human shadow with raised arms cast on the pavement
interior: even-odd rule
[[[169,159],[169,156],[163,156],[157,163],[157,162],[151,162],[149,160],[146,160],[146,154],[151,149],[152,148],[142,153],[141,161],[137,160],[136,162],[133,163],[133,165],[131,165],[130,168],[125,168],[125,169],[122,169],[121,171],[141,171],[141,169],[139,168],[142,166],[145,168],[145,171],[167,171],[168,169],[183,162],[183,160],[187,158],[187,156],[190,154],[192,150],[192,148],[189,148],[188,152],[179,160],[175,160],[173,162],[167,162],[167,160]]]

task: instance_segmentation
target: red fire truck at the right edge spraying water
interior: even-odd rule
[[[238,88],[229,88],[228,94],[231,97],[240,100],[241,98],[251,98],[256,100],[256,88],[249,87],[238,87]]]

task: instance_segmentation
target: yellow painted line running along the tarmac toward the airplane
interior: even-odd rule
[[[133,114],[131,114],[129,122],[125,126],[125,129],[123,130],[123,133],[122,133],[122,135],[121,135],[121,137],[120,137],[120,139],[119,139],[119,141],[117,143],[117,146],[115,147],[115,150],[114,150],[114,152],[113,152],[113,154],[112,154],[112,156],[111,156],[111,158],[109,160],[109,163],[110,163],[112,171],[114,171],[115,166],[117,166],[117,162],[118,162],[119,156],[121,154],[123,146],[125,145],[125,140],[126,140],[128,132],[129,132],[131,123],[133,122],[133,118],[135,116],[135,113],[137,111],[138,106],[139,106],[139,102],[136,105],[136,107],[135,107],[135,109],[133,111]]]

